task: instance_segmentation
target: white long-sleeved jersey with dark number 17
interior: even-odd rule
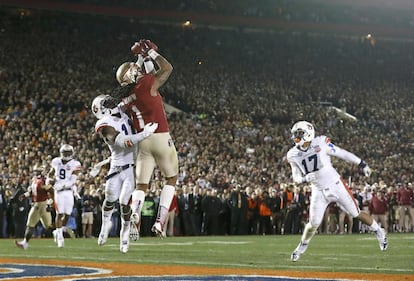
[[[329,187],[339,180],[340,175],[332,166],[331,156],[358,165],[361,159],[353,153],[334,145],[330,138],[314,138],[305,150],[294,146],[287,153],[287,160],[292,167],[293,180],[302,182],[303,176],[315,173],[312,184],[318,188]]]

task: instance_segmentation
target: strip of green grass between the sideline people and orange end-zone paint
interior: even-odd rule
[[[96,239],[66,239],[58,249],[52,239],[32,239],[24,251],[12,239],[0,239],[0,257],[74,260],[225,268],[356,272],[414,275],[414,234],[389,234],[389,248],[381,252],[372,234],[316,235],[298,262],[290,254],[299,235],[200,236],[141,238],[128,254],[119,240],[99,247]]]

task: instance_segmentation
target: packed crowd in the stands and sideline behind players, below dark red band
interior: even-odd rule
[[[310,189],[292,184],[285,155],[301,119],[373,169],[366,180],[358,167],[334,162],[361,209],[385,215],[389,232],[413,231],[412,42],[0,10],[0,237],[22,237],[30,202],[18,194],[34,163],[50,164],[63,143],[83,166],[79,193],[92,197],[92,206],[77,202],[71,227],[79,237],[98,235],[106,170],[93,178],[88,169],[109,151],[93,133],[89,108],[117,87],[115,70],[134,59],[130,46],[140,38],[172,63],[161,94],[182,110],[169,117],[180,175],[168,235],[300,233]],[[160,178],[156,171],[147,192],[149,221]],[[385,210],[376,209],[377,199]],[[96,219],[91,233],[79,223],[85,208]],[[335,205],[321,227],[364,231]],[[151,235],[144,221],[141,232]]]

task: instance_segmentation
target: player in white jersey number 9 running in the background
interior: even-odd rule
[[[77,174],[81,171],[81,163],[73,159],[74,149],[64,144],[59,149],[60,157],[52,159],[51,169],[46,184],[52,184],[56,209],[56,242],[59,248],[64,246],[64,227],[70,217],[74,205],[74,196],[80,199],[77,191]]]

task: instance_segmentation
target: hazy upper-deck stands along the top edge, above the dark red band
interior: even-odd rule
[[[71,3],[119,7],[116,0],[68,0]],[[353,3],[352,3],[353,2]],[[359,2],[359,3],[358,3]],[[276,19],[287,22],[383,25],[412,27],[412,4],[407,1],[274,1],[274,0],[147,0],[122,2],[122,7],[140,10],[161,10]]]

